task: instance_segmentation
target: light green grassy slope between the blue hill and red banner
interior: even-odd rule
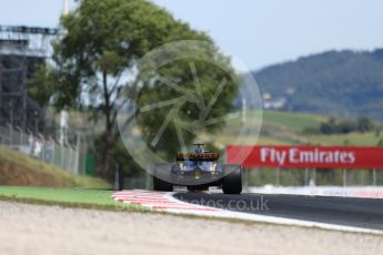
[[[251,112],[251,115],[255,115]],[[249,116],[249,118],[250,118]],[[244,144],[322,144],[322,145],[370,145],[375,146],[383,141],[383,133],[376,131],[360,133],[351,132],[347,134],[314,134],[306,133],[308,128],[319,128],[322,122],[327,121],[327,116],[319,114],[284,112],[284,111],[263,111],[261,134],[258,137],[245,137]],[[238,123],[229,122],[225,130],[214,135],[214,141],[224,144],[235,144],[238,135]],[[382,129],[379,125],[379,129]]]

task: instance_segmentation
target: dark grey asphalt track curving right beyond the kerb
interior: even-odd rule
[[[235,212],[383,230],[383,200],[215,193],[177,193],[174,197]]]

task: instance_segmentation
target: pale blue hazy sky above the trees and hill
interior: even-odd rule
[[[250,69],[331,49],[383,48],[382,0],[153,0]],[[61,0],[0,0],[0,24],[54,27]]]

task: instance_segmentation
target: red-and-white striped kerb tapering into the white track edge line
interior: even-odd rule
[[[344,226],[329,223],[319,223],[304,220],[294,220],[285,217],[266,216],[259,214],[233,212],[228,210],[214,208],[203,205],[195,205],[185,203],[175,198],[173,195],[175,192],[152,192],[152,191],[121,191],[112,195],[112,198],[122,203],[139,204],[151,210],[168,212],[174,214],[192,214],[199,216],[220,217],[220,218],[235,218],[245,220],[252,222],[272,223],[291,226],[304,226],[304,227],[318,227],[323,230],[355,232],[365,234],[380,234],[383,235],[383,231]]]

